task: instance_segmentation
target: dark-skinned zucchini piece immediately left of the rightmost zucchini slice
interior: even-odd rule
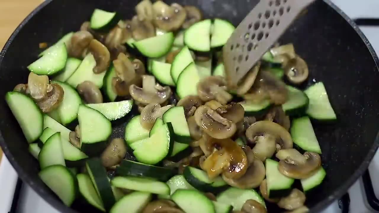
[[[289,116],[302,116],[307,110],[309,99],[304,92],[292,86],[287,86],[288,100],[283,103],[282,108]]]

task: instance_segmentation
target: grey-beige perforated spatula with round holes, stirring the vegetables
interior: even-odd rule
[[[298,14],[315,0],[260,0],[242,20],[223,48],[230,88],[257,63]]]

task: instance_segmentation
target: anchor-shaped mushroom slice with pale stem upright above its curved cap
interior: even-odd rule
[[[132,98],[139,103],[164,103],[166,102],[172,92],[169,86],[160,86],[155,84],[155,78],[151,75],[143,75],[142,88],[137,85],[130,85],[129,92]]]

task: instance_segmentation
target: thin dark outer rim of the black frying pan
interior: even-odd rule
[[[5,43],[3,49],[1,50],[0,64],[2,63],[4,55],[7,52],[10,44],[13,42],[14,38],[17,36],[17,34],[23,28],[23,26],[27,24],[29,20],[35,14],[37,14],[42,8],[44,8],[46,5],[48,5],[52,1],[53,0],[45,0],[37,8],[35,8],[30,14],[28,14],[28,16],[25,17],[25,19],[22,20],[22,22],[19,24],[16,30],[13,31],[8,41]],[[323,0],[323,1],[332,9],[334,9],[338,14],[340,14],[340,16],[342,16],[346,20],[346,22],[348,22],[349,25],[359,34],[360,38],[365,43],[367,49],[370,51],[371,56],[373,57],[373,60],[375,61],[376,69],[379,71],[379,67],[378,67],[379,58],[376,52],[374,51],[372,45],[370,44],[366,36],[363,34],[363,32],[356,25],[356,23],[354,23],[350,17],[348,17],[340,8],[338,8],[338,6],[336,6],[330,0]],[[13,168],[17,171],[17,174],[22,179],[22,181],[26,182],[34,191],[36,191],[36,193],[38,193],[39,196],[41,196],[45,201],[47,201],[56,210],[59,210],[61,212],[66,212],[66,213],[78,213],[78,211],[64,205],[56,197],[50,196],[50,194],[47,191],[41,190],[41,188],[39,188],[38,185],[34,184],[34,182],[27,177],[27,174],[22,170],[20,165],[14,160],[13,155],[9,152],[9,149],[6,146],[4,138],[2,137],[1,131],[0,131],[0,145],[3,149],[5,156],[8,158]],[[321,202],[313,206],[310,212],[319,212],[323,210],[324,208],[326,208],[328,205],[330,205],[335,199],[338,199],[341,196],[343,196],[343,194],[346,193],[346,191],[351,187],[351,185],[354,182],[356,182],[356,180],[360,176],[362,176],[363,172],[366,171],[378,147],[379,147],[379,132],[377,133],[376,138],[374,139],[374,143],[371,146],[370,151],[367,153],[365,159],[360,164],[359,168],[348,178],[348,180],[346,180],[342,185],[340,185],[336,190],[334,190],[328,197],[326,197],[324,200],[322,200]]]

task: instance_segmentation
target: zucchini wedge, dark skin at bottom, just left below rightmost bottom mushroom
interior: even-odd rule
[[[267,193],[270,198],[287,196],[294,179],[279,172],[278,162],[266,159]]]

